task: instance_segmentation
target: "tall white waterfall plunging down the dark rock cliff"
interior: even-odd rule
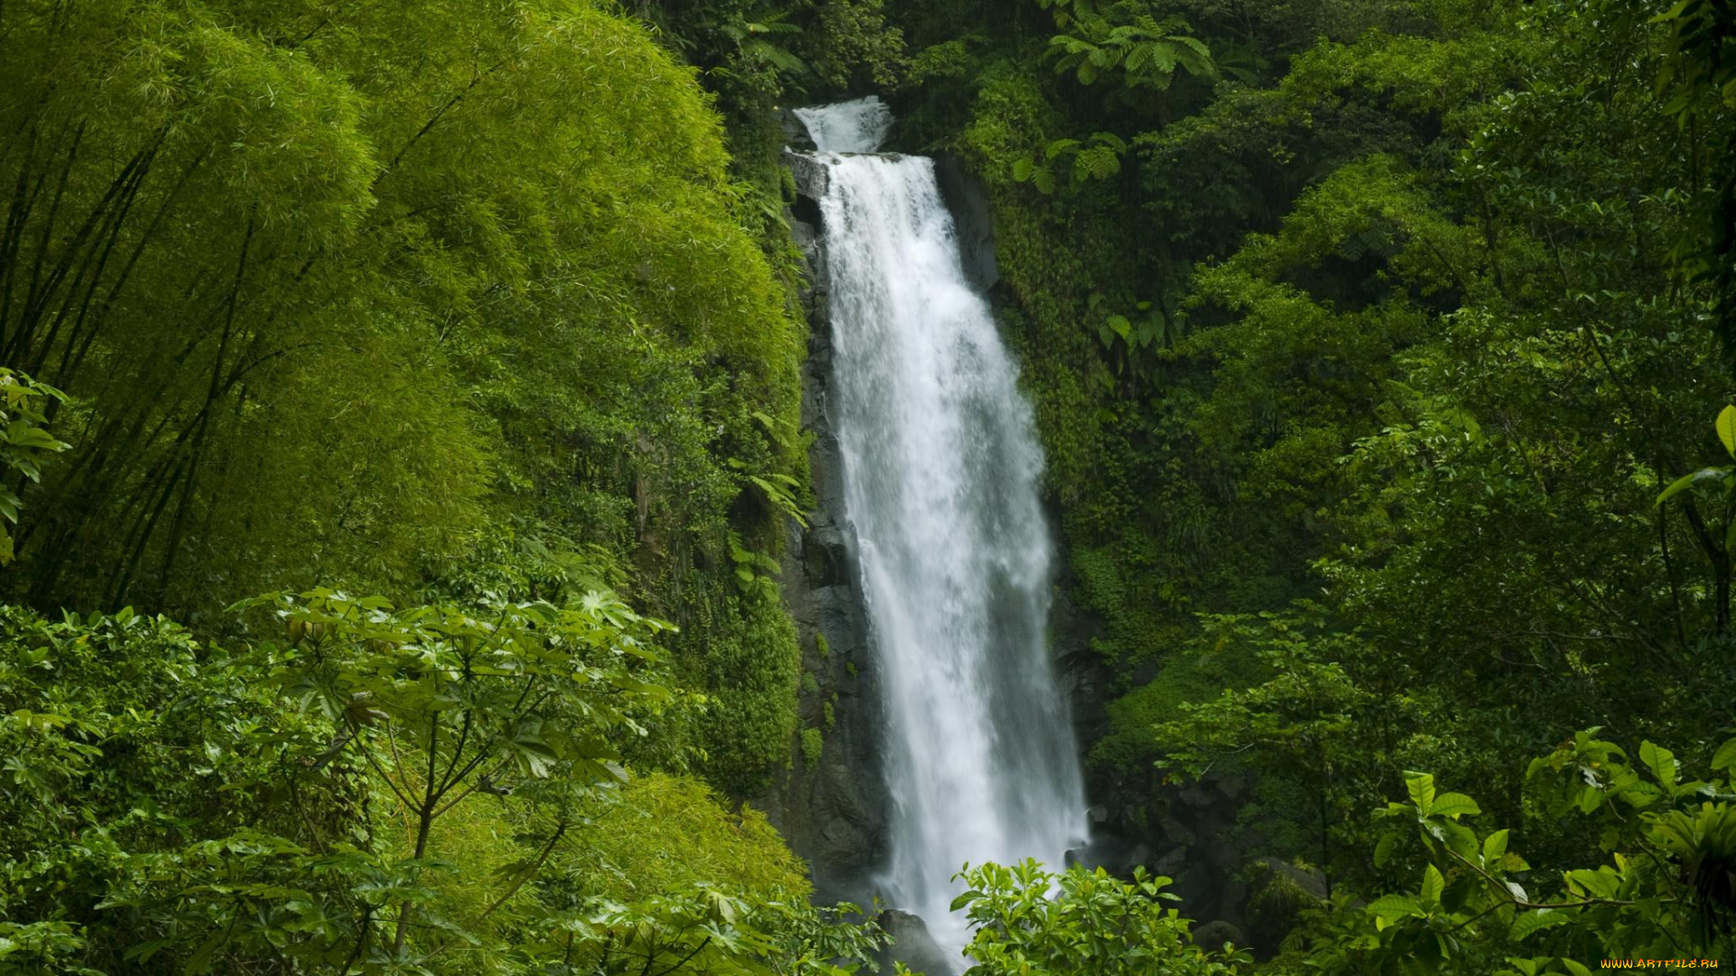
[[[887,716],[882,896],[955,953],[967,861],[1059,868],[1087,837],[1045,627],[1043,457],[1017,366],[969,285],[934,162],[873,155],[878,99],[799,109],[821,201],[844,511]],[[934,974],[930,974],[934,976]]]

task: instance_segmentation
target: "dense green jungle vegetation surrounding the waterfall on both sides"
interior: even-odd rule
[[[741,802],[779,111],[870,92],[991,201],[1094,797],[1252,790],[1259,959],[981,865],[970,974],[1736,964],[1729,0],[10,0],[0,973],[873,955]]]

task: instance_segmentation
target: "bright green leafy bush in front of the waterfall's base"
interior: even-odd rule
[[[970,889],[953,910],[965,910],[974,929],[967,976],[1207,976],[1250,962],[1234,946],[1219,955],[1193,945],[1187,920],[1167,905],[1177,901],[1163,891],[1170,879],[1144,868],[1121,880],[1102,868],[1050,874],[1023,861],[967,865],[960,877]]]

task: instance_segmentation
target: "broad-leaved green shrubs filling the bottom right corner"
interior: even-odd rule
[[[1333,973],[1580,973],[1588,959],[1719,959],[1736,913],[1736,799],[1727,780],[1682,781],[1675,757],[1641,743],[1641,768],[1614,743],[1576,733],[1531,762],[1526,780],[1547,816],[1592,818],[1611,863],[1535,872],[1510,832],[1481,834],[1477,802],[1441,794],[1434,776],[1406,775],[1410,802],[1377,813],[1389,823],[1375,858],[1417,858],[1417,887],[1340,908],[1307,964]],[[1736,755],[1736,745],[1722,752]],[[1722,769],[1731,755],[1713,759]],[[1649,775],[1649,776],[1647,776]]]

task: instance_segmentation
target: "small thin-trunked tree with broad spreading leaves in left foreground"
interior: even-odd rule
[[[472,795],[519,797],[545,818],[545,851],[597,783],[625,771],[621,738],[646,735],[672,693],[651,641],[665,625],[590,594],[575,608],[493,604],[394,613],[330,590],[250,601],[288,632],[274,681],[339,731],[413,823],[403,877],[418,879],[439,820]],[[269,651],[267,651],[269,653]],[[533,825],[526,825],[535,830]],[[505,872],[517,891],[542,860]],[[417,903],[392,905],[401,953]],[[484,910],[486,915],[486,910]]]

